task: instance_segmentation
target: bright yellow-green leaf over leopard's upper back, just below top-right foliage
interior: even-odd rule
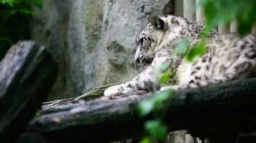
[[[186,55],[186,59],[188,61],[193,61],[194,58],[197,56],[201,56],[206,52],[206,43],[204,41],[201,41],[197,46],[193,47],[191,50],[188,51],[188,54]]]

